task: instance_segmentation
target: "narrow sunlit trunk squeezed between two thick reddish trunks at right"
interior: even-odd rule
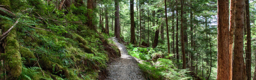
[[[235,27],[235,0],[230,0],[230,19],[229,19],[229,72],[232,80],[232,61],[233,61],[233,41],[234,41],[234,27]]]

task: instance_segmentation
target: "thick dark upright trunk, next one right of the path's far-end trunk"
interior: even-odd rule
[[[134,24],[134,0],[130,0],[130,12],[131,12],[131,43],[136,44],[135,39],[135,24]]]

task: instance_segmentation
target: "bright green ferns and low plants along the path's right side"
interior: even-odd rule
[[[139,48],[129,44],[128,54],[144,60],[138,66],[147,80],[190,80],[192,77],[186,73],[188,69],[178,69],[169,59],[172,55],[162,52],[161,49]],[[159,47],[158,47],[159,48]]]

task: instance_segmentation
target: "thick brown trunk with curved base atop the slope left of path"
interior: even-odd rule
[[[94,24],[92,24],[92,21],[93,21],[93,18],[94,18],[93,10],[94,10],[95,7],[96,7],[95,6],[95,0],[87,0],[86,24],[90,29],[92,29],[94,31],[97,31],[96,26]]]

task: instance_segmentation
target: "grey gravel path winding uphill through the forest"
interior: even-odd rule
[[[109,80],[145,80],[137,65],[138,62],[134,57],[128,55],[125,45],[119,43],[116,38],[112,38],[112,40],[121,51],[121,58],[116,58],[117,61],[113,61],[107,68]]]

